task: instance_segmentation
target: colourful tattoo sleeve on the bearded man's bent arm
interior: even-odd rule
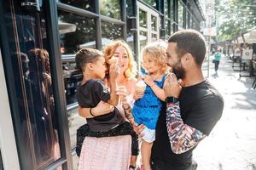
[[[166,126],[172,151],[176,154],[194,148],[206,137],[201,131],[183,123],[178,102],[167,104]]]

